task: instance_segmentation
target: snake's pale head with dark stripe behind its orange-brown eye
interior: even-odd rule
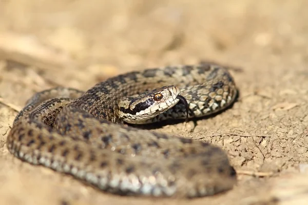
[[[180,100],[183,101],[184,97],[180,94],[179,87],[164,86],[134,98],[128,97],[119,103],[119,115],[130,124],[145,124],[149,119],[174,107]]]

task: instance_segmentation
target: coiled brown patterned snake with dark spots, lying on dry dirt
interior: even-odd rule
[[[138,126],[219,114],[237,95],[228,69],[213,63],[131,71],[86,92],[55,87],[27,101],[14,119],[7,148],[22,161],[105,193],[215,195],[237,183],[222,148]]]

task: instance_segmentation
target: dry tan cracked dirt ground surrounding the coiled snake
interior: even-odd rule
[[[269,0],[0,1],[1,204],[306,204],[308,2]],[[199,199],[102,193],[14,158],[16,111],[56,85],[87,90],[130,70],[210,60],[236,69],[233,108],[158,131],[221,146],[231,191]]]

